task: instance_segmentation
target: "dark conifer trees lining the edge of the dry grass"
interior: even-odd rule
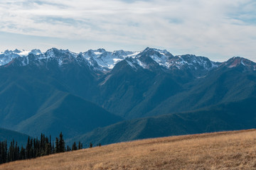
[[[41,134],[40,139],[28,137],[26,147],[19,147],[18,143],[13,140],[8,148],[7,141],[3,141],[0,142],[0,164],[78,149],[82,149],[81,142],[78,142],[78,145],[74,142],[72,147],[65,147],[62,132],[60,132],[59,137],[55,137],[55,141],[43,134]]]

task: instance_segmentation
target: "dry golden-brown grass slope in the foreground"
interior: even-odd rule
[[[0,169],[256,169],[256,130],[122,142],[11,162]]]

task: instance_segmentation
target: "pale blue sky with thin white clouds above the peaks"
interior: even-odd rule
[[[256,62],[255,0],[1,0],[0,51],[154,47]]]

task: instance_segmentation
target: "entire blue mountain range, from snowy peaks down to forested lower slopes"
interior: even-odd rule
[[[110,143],[255,128],[255,97],[256,63],[242,57],[213,62],[149,47],[0,53],[0,127],[31,136],[63,131],[68,139]]]

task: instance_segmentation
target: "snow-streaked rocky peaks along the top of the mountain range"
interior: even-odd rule
[[[68,62],[78,62],[81,63],[86,62],[90,67],[96,70],[100,70],[101,72],[108,72],[114,68],[114,66],[122,61],[130,58],[133,63],[137,63],[140,67],[144,69],[150,69],[147,63],[147,59],[145,57],[150,57],[151,60],[159,64],[161,67],[165,67],[166,69],[183,69],[183,67],[189,68],[194,72],[196,70],[205,70],[209,71],[219,66],[227,65],[230,60],[226,62],[213,62],[210,61],[207,57],[201,57],[196,55],[172,55],[167,50],[158,50],[155,48],[146,47],[145,50],[139,52],[131,52],[124,50],[115,50],[113,52],[107,52],[105,49],[98,50],[87,50],[87,52],[71,52],[70,50],[58,50],[57,48],[51,48],[46,52],[41,52],[41,50],[6,50],[4,52],[0,52],[0,66],[4,66],[19,58],[21,63],[20,66],[25,66],[29,64],[30,61],[38,61],[40,60],[57,60],[58,65],[67,64]],[[236,57],[241,58],[241,57]],[[245,60],[245,59],[244,59]],[[129,61],[129,60],[127,60]],[[244,64],[240,60],[240,63]],[[149,62],[149,61],[148,61]],[[152,61],[151,61],[152,62]],[[255,63],[250,60],[245,60],[245,63],[250,62],[253,69],[256,69]],[[233,67],[232,66],[228,67]],[[245,64],[244,64],[245,65]],[[247,64],[248,65],[248,64]],[[236,66],[236,65],[235,65]]]

